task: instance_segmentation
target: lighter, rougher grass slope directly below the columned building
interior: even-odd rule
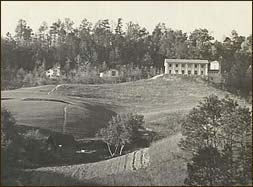
[[[181,77],[160,77],[120,84],[63,85],[54,95],[83,102],[104,104],[115,112],[136,112],[145,117],[146,127],[168,136],[180,131],[180,121],[203,97],[232,96],[207,82]],[[233,96],[232,96],[233,97]],[[245,103],[238,100],[241,105]]]

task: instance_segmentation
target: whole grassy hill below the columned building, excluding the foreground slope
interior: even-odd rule
[[[161,77],[121,84],[54,85],[2,91],[2,106],[27,125],[93,137],[112,115],[119,112],[143,114],[146,127],[168,136],[180,131],[180,120],[203,97],[228,92],[207,83],[180,77]],[[50,94],[48,94],[50,92]]]

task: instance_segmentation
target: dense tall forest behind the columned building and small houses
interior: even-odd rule
[[[50,26],[43,22],[38,31],[20,19],[14,36],[1,37],[1,53],[2,89],[47,84],[44,72],[56,64],[69,82],[98,83],[96,75],[108,68],[146,78],[152,68],[161,73],[165,58],[184,58],[218,60],[228,89],[246,96],[252,90],[252,35],[235,30],[217,41],[207,29],[185,33],[158,23],[149,33],[121,18],[95,24],[84,19],[78,27],[58,19]]]

